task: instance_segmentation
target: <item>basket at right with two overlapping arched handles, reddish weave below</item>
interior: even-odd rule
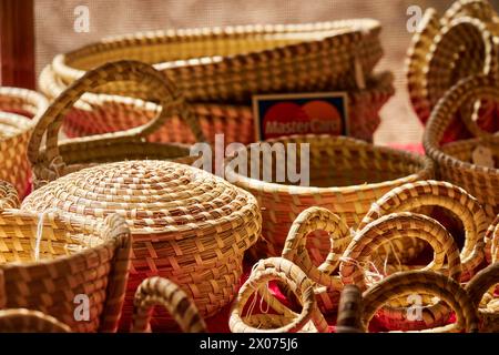
[[[457,243],[435,220],[414,211],[422,206],[440,206],[461,220],[465,245],[459,252]],[[420,181],[394,189],[378,200],[359,225],[354,241],[343,255],[340,275],[344,284],[353,283],[366,290],[394,271],[421,268],[417,265],[384,265],[374,253],[379,246],[401,237],[426,241],[434,250],[434,260],[422,270],[438,271],[456,282],[468,282],[483,262],[483,234],[487,219],[477,200],[462,189],[449,183]],[[388,267],[387,267],[388,266]],[[374,274],[374,275],[373,275]],[[422,320],[407,321],[407,300],[396,300],[378,313],[378,320],[390,329],[421,329],[448,322],[450,308],[422,297]]]

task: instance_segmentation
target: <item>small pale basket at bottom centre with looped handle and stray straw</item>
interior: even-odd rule
[[[294,293],[302,305],[299,314],[271,294],[268,283],[272,281],[284,283]],[[246,307],[251,298],[252,304]],[[281,257],[261,260],[253,267],[232,306],[228,325],[233,333],[327,332],[327,323],[318,311],[312,282],[298,266]]]

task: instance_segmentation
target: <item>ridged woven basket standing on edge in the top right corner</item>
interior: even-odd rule
[[[487,0],[458,0],[441,18],[425,12],[407,60],[409,95],[422,122],[460,79],[498,74],[498,19]]]

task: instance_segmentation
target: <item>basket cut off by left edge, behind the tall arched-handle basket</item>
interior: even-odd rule
[[[21,197],[29,189],[31,174],[26,156],[32,131],[30,119],[38,120],[47,106],[39,93],[0,88],[0,180],[13,184]]]

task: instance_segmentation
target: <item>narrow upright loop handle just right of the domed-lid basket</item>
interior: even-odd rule
[[[306,246],[307,235],[314,231],[329,233],[330,251],[320,266],[315,266]],[[332,276],[339,264],[339,256],[352,240],[350,231],[342,219],[323,207],[309,207],[303,211],[293,222],[286,242],[283,247],[282,257],[298,265],[305,274],[314,282],[342,290],[339,277]]]

